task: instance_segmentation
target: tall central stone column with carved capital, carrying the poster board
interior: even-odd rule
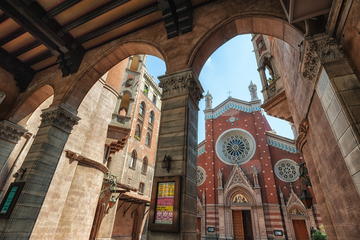
[[[195,240],[198,104],[203,90],[197,76],[190,69],[159,79],[163,94],[155,178],[182,176],[180,231],[149,231],[148,236],[150,240]],[[163,168],[165,155],[172,158],[169,171]],[[153,187],[156,188],[155,185]]]

